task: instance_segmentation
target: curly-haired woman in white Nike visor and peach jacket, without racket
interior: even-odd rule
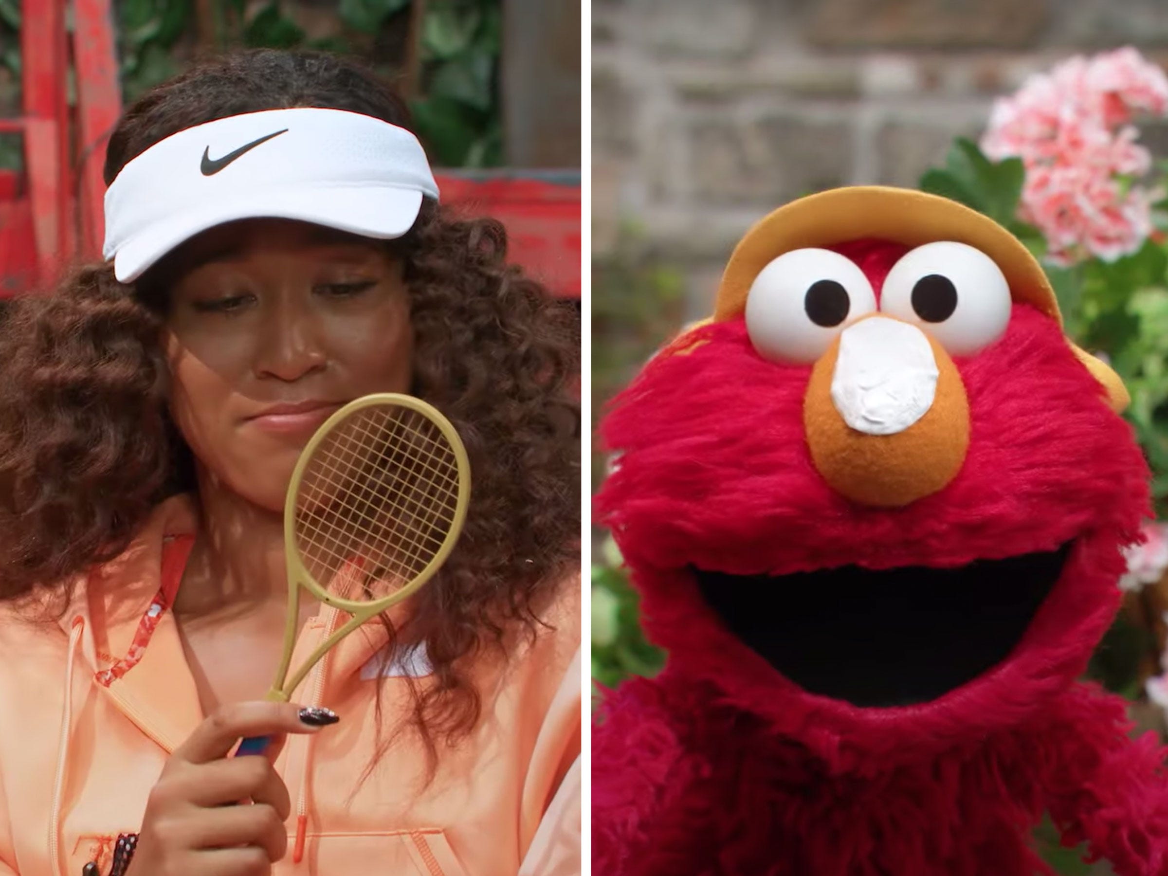
[[[405,125],[325,56],[159,86],[110,140],[106,264],[0,329],[0,872],[578,872],[575,314]],[[461,540],[262,702],[292,465],[374,391],[460,432]],[[293,663],[335,620],[304,606]]]

